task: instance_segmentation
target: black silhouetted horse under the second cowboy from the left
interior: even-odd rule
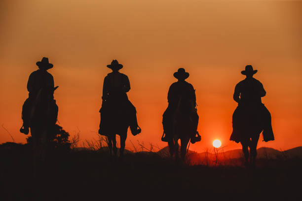
[[[128,100],[129,101],[129,100]],[[102,106],[101,112],[101,123],[100,128],[102,127],[101,134],[107,136],[107,144],[109,147],[109,152],[111,157],[117,156],[116,148],[116,134],[120,137],[120,148],[119,148],[119,158],[123,158],[127,131],[130,126],[129,116],[131,115],[130,111],[134,108],[128,108],[129,102],[120,102],[119,100],[111,101],[106,104],[105,107]],[[136,111],[136,110],[135,110]],[[100,129],[101,130],[101,129]]]

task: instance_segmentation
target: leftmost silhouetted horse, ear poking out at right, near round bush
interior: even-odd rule
[[[53,99],[57,87],[42,87],[34,99],[30,110],[30,131],[32,135],[34,165],[37,159],[44,161],[47,151],[47,135],[54,128],[58,106]]]

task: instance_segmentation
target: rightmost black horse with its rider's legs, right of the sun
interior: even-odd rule
[[[230,140],[241,143],[245,167],[256,165],[257,144],[262,132],[264,141],[274,140],[271,116],[264,104],[238,106],[235,109]]]

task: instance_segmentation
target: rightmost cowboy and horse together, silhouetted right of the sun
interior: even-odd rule
[[[263,84],[253,78],[257,71],[251,65],[247,65],[245,70],[241,71],[246,78],[235,86],[233,99],[238,106],[232,116],[233,132],[230,136],[230,140],[241,143],[245,166],[250,164],[250,155],[253,167],[256,163],[257,144],[261,132],[263,132],[264,141],[274,140],[271,115],[261,100],[266,92]],[[250,153],[248,147],[250,147]]]

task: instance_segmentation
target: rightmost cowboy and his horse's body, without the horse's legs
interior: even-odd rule
[[[266,92],[263,84],[253,78],[257,72],[251,65],[245,67],[241,73],[246,75],[246,78],[240,81],[234,91],[233,99],[238,102],[238,106],[233,113],[233,132],[230,140],[239,142],[247,133],[245,127],[251,125],[249,129],[251,133],[259,132],[263,129],[264,141],[274,140],[274,135],[271,127],[271,116],[267,108],[262,103],[261,97],[264,97]],[[252,131],[254,130],[255,131]]]

